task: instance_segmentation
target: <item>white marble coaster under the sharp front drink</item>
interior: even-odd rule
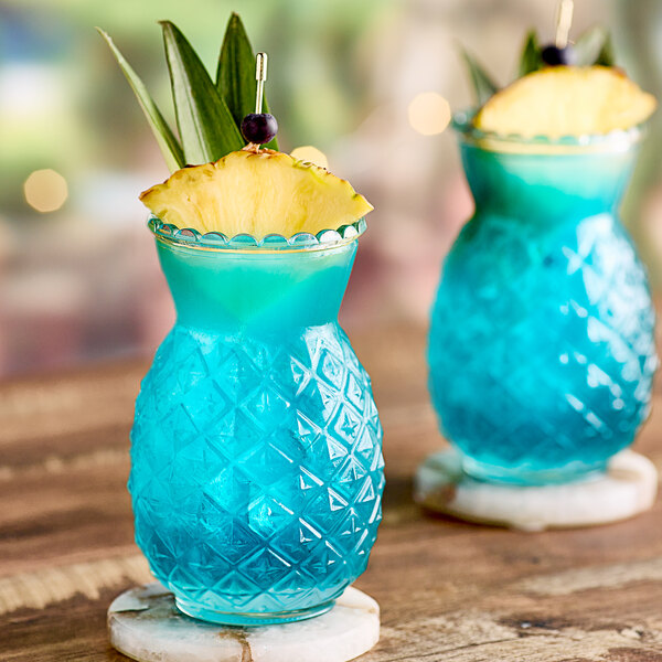
[[[380,639],[380,607],[348,588],[327,613],[277,626],[235,628],[184,616],[161,584],[118,596],[108,609],[110,643],[139,662],[346,662]]]

